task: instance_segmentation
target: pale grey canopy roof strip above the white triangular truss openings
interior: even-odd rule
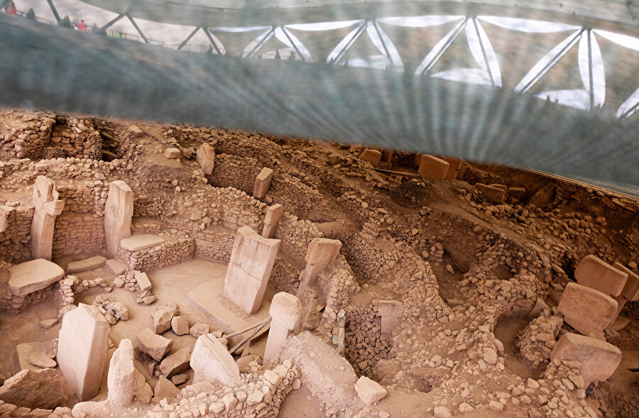
[[[639,26],[639,1],[633,0],[82,0],[115,13],[160,23],[198,26],[250,26],[312,23],[384,16],[454,13],[508,14],[583,23],[601,19]],[[555,16],[555,19],[552,18]]]

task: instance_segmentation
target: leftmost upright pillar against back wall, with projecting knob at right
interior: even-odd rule
[[[51,260],[55,217],[62,213],[65,201],[58,199],[53,180],[43,175],[35,179],[33,187],[33,221],[31,222],[31,257]]]

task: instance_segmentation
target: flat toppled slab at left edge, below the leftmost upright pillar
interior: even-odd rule
[[[65,275],[65,270],[44,258],[12,265],[9,268],[9,290],[16,296],[43,290]]]

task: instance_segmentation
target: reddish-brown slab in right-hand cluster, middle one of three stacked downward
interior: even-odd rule
[[[600,333],[616,317],[617,302],[590,287],[568,283],[557,307],[564,321],[581,334]]]

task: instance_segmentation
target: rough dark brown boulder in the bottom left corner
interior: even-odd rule
[[[54,409],[64,399],[58,370],[22,370],[4,381],[0,387],[0,400],[30,409]]]

